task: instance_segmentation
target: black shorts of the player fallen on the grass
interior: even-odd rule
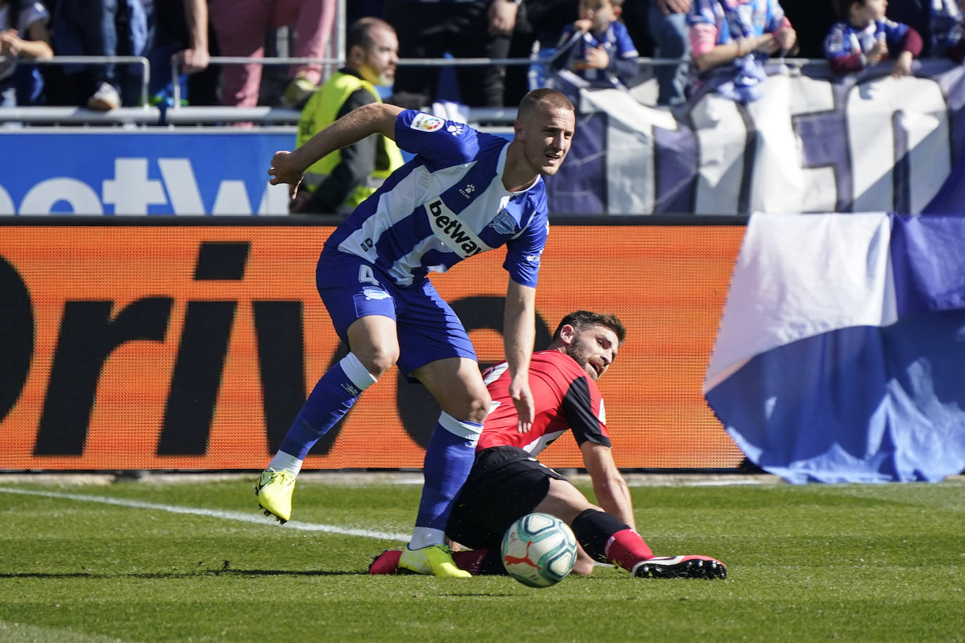
[[[517,446],[483,449],[455,498],[447,535],[472,549],[499,547],[510,524],[546,497],[550,478],[566,479]]]

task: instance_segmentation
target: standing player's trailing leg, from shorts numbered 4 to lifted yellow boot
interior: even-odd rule
[[[311,448],[399,359],[392,286],[377,281],[372,266],[350,255],[323,253],[317,282],[350,352],[318,380],[255,486],[259,506],[281,522],[290,519],[295,476]]]

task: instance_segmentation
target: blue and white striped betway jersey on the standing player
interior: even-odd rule
[[[503,187],[509,141],[469,125],[405,110],[396,143],[416,154],[363,201],[325,247],[369,261],[400,286],[506,244],[512,281],[535,286],[549,216],[542,177]]]

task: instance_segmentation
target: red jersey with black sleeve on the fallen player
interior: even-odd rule
[[[533,354],[530,389],[536,417],[527,433],[516,429],[509,365],[502,362],[487,368],[483,380],[492,397],[492,407],[485,418],[477,450],[509,445],[535,456],[566,429],[572,430],[577,444],[589,440],[610,446],[599,388],[583,367],[565,353],[552,350]]]

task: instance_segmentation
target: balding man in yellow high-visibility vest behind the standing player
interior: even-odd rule
[[[375,17],[357,20],[345,41],[345,67],[308,99],[298,121],[297,146],[348,112],[381,102],[376,85],[392,85],[399,62],[399,39],[392,26]],[[305,172],[292,214],[347,216],[402,165],[399,147],[381,134],[337,149]]]

